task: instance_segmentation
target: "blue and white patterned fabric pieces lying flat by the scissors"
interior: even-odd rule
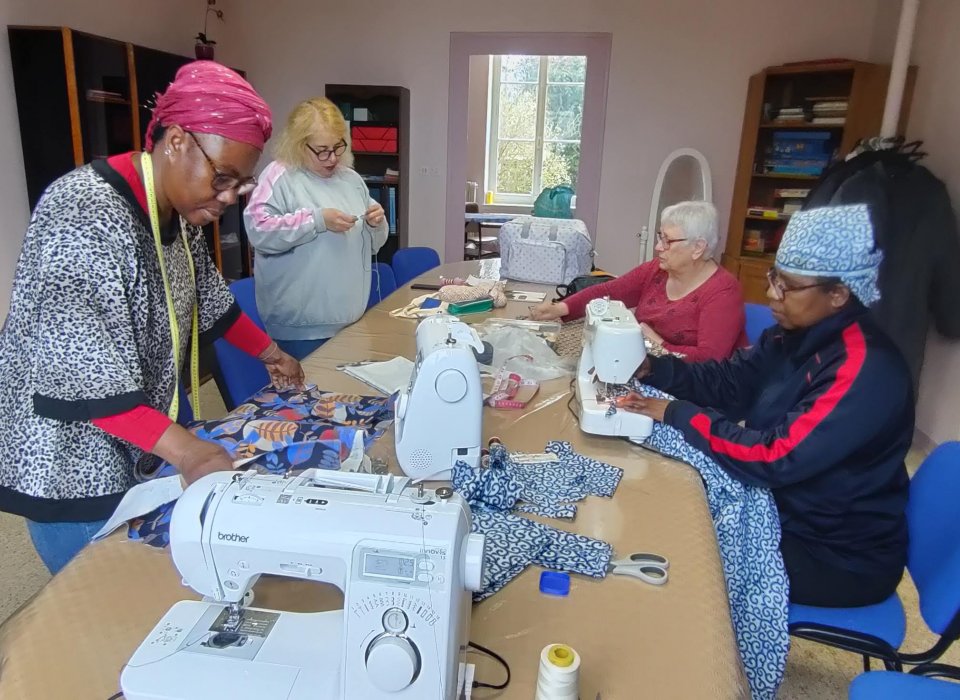
[[[528,512],[549,515],[545,511],[572,510],[562,517],[573,517],[576,508],[563,501],[581,500],[590,494],[612,496],[623,470],[583,457],[566,442],[547,443],[546,451],[557,454],[558,460],[516,464],[506,447],[494,444],[488,468],[473,468],[463,462],[454,468],[453,488],[470,504],[473,532],[487,540],[483,587],[474,593],[474,601],[489,598],[530,564],[594,578],[606,576],[613,554],[609,544],[510,511],[528,508]],[[589,471],[596,473],[591,475]],[[524,503],[531,498],[536,502]]]

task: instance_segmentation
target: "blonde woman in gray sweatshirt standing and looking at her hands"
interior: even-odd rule
[[[244,211],[256,251],[257,310],[297,359],[363,315],[371,258],[387,240],[383,207],[350,167],[346,139],[330,100],[301,102]]]

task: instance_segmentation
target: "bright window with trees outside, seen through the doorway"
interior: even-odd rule
[[[491,56],[487,190],[533,204],[545,187],[577,188],[586,56]]]

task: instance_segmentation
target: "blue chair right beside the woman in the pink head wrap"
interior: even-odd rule
[[[263,321],[257,313],[256,286],[253,277],[237,280],[230,285],[230,291],[237,298],[240,309],[260,328],[263,328]],[[233,347],[223,338],[214,341],[213,352],[217,359],[213,378],[217,382],[217,388],[220,389],[220,395],[228,411],[232,411],[270,383],[270,377],[262,362]]]

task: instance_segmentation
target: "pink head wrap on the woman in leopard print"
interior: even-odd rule
[[[157,96],[147,126],[148,151],[153,149],[157,124],[216,134],[261,151],[273,131],[270,107],[263,98],[236,72],[215,61],[188,63]]]

